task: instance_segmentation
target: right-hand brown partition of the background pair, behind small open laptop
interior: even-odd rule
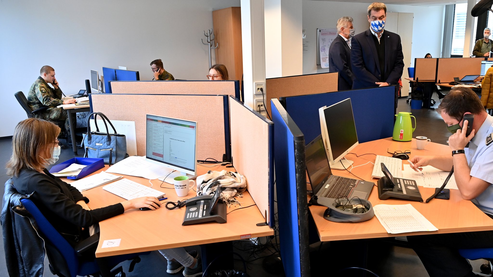
[[[484,58],[440,58],[436,73],[436,81],[450,83],[454,77],[462,78],[465,75],[479,75],[481,61]]]

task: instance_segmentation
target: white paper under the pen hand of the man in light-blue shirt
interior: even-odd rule
[[[440,187],[449,176],[449,172],[436,169],[431,165],[423,166],[423,174],[414,171],[409,164],[404,164],[402,178],[415,180],[416,184],[424,187]],[[445,188],[458,189],[454,174],[450,177]]]

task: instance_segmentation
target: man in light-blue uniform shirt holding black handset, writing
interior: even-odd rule
[[[454,166],[462,198],[493,217],[493,117],[469,88],[449,92],[437,112],[452,132],[448,141],[452,153],[415,156],[410,159],[414,170],[431,165],[450,171]],[[408,236],[408,241],[430,277],[472,277],[477,275],[458,249],[493,247],[493,231]]]

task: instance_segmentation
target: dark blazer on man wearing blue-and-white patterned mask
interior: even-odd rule
[[[358,33],[351,40],[351,66],[354,82],[352,89],[375,88],[375,82],[381,82],[380,62],[377,47],[370,29]],[[385,76],[383,82],[397,85],[404,69],[404,56],[400,36],[384,31],[385,39]]]

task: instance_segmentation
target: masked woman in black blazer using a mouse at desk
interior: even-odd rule
[[[30,199],[70,244],[74,245],[79,237],[87,238],[98,232],[100,221],[121,215],[126,210],[159,209],[157,198],[140,197],[91,210],[87,206],[87,197],[46,169],[60,155],[59,133],[60,127],[49,121],[36,118],[21,121],[14,130],[12,156],[6,168],[15,189],[21,194],[32,194]],[[168,260],[168,273],[178,273],[185,266],[185,277],[202,275],[197,251],[190,255],[180,247],[159,252]]]

